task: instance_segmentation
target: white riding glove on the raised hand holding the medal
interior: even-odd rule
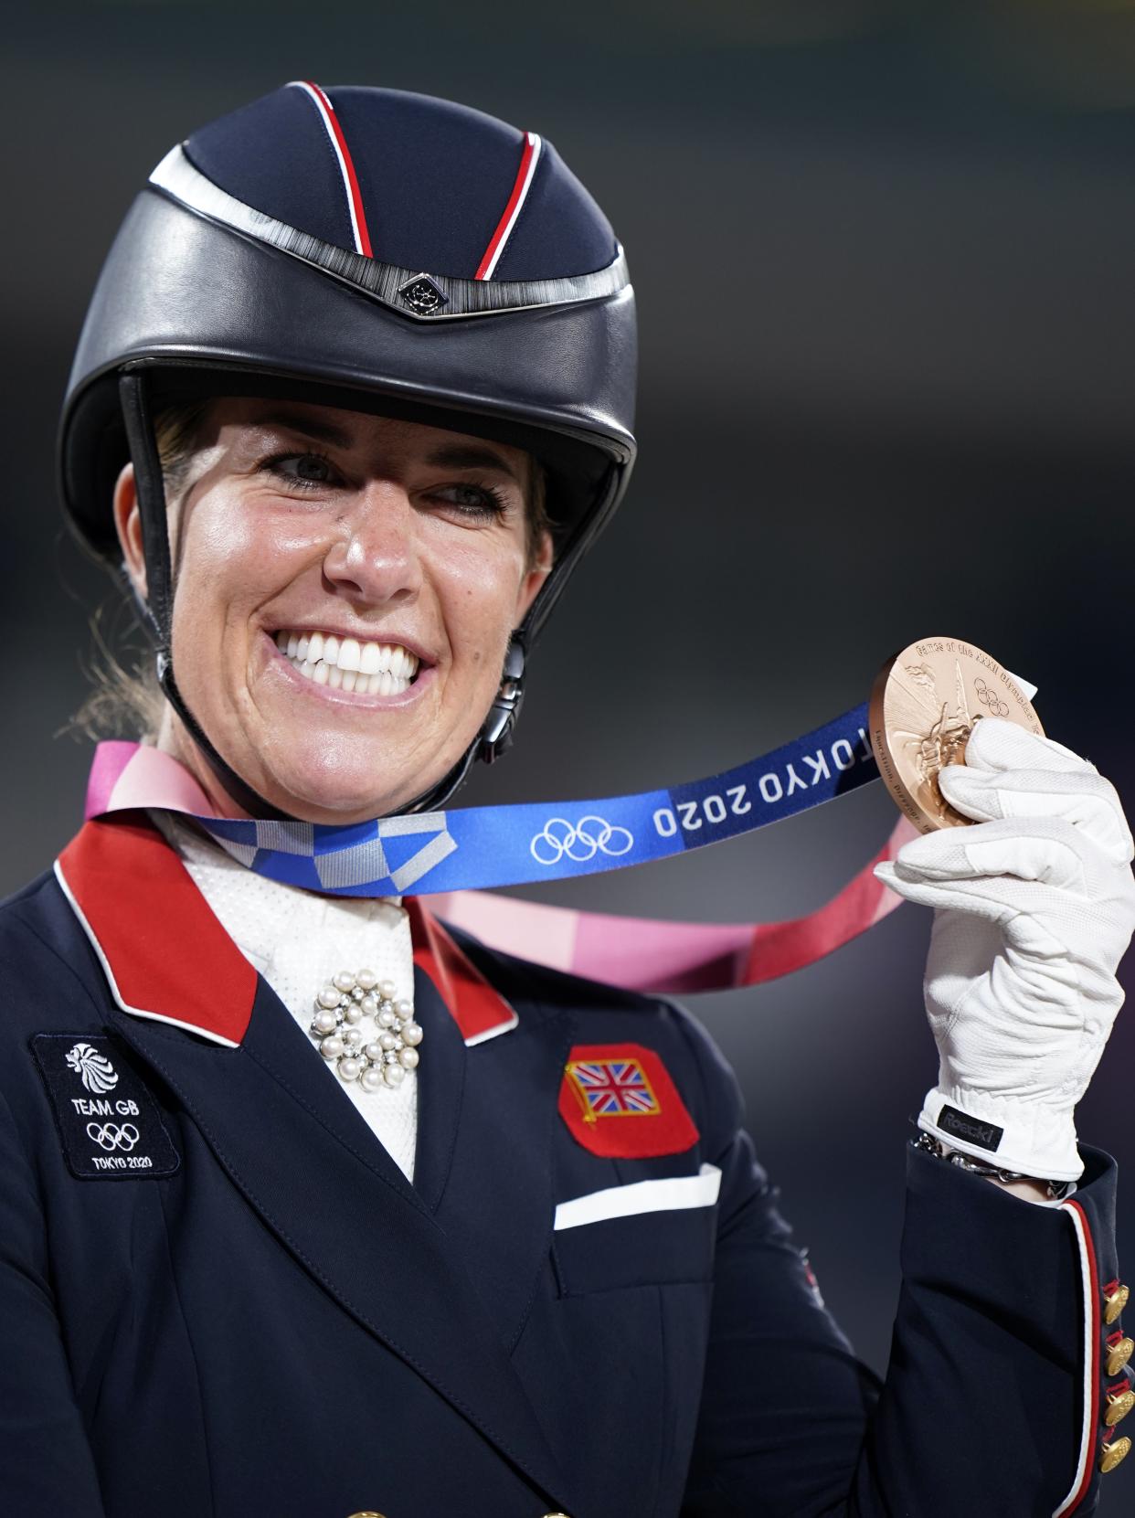
[[[1074,1181],[1073,1108],[1123,1002],[1115,967],[1135,927],[1130,830],[1094,765],[995,716],[939,783],[976,826],[915,838],[876,868],[935,908],[939,1072],[918,1126],[998,1169]]]

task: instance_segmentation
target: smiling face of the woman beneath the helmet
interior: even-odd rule
[[[517,448],[416,422],[211,402],[170,505],[173,668],[273,806],[361,821],[457,764],[551,565],[548,540],[528,551],[531,469]],[[129,466],[115,519],[144,594]],[[232,811],[168,709],[159,742]]]

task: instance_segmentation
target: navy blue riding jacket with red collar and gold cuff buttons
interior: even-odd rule
[[[1093,1510],[1106,1155],[1050,1210],[912,1151],[880,1387],[689,1016],[423,932],[411,1186],[144,823],[0,909],[0,1510]],[[627,1043],[692,1146],[605,1158],[561,1114],[572,1049]],[[715,1169],[716,1205],[554,1227]]]

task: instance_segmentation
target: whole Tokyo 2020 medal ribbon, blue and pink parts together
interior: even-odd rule
[[[558,970],[642,991],[753,985],[812,964],[900,905],[872,870],[886,846],[825,906],[781,923],[706,924],[580,912],[484,894],[665,859],[754,832],[879,777],[866,706],[734,770],[662,791],[592,802],[473,806],[344,826],[217,817],[173,757],[99,744],[86,817],[155,808],[187,817],[258,874],[326,896],[423,896],[484,943]]]

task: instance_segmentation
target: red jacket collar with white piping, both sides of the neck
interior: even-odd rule
[[[86,823],[55,864],[59,885],[124,1013],[235,1049],[256,972],[234,944],[173,849],[140,814]],[[445,927],[407,900],[414,964],[437,987],[467,1044],[508,1032],[516,1013]]]

